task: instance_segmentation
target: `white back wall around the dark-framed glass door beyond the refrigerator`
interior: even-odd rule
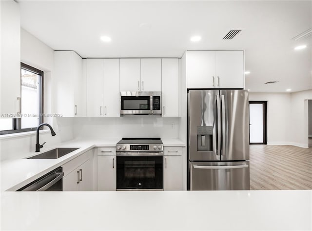
[[[287,145],[291,141],[291,94],[250,93],[249,101],[268,101],[268,145]]]

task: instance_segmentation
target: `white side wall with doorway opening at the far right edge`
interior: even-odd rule
[[[309,147],[308,144],[308,101],[312,99],[312,90],[291,93],[291,144]]]

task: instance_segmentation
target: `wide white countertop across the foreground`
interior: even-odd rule
[[[1,192],[1,230],[312,230],[312,190]]]

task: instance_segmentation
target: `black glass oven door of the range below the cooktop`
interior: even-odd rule
[[[163,156],[117,156],[117,190],[163,190]]]

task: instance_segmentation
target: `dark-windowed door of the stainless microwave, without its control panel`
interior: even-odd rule
[[[120,114],[151,114],[153,113],[153,97],[151,96],[121,96]]]

